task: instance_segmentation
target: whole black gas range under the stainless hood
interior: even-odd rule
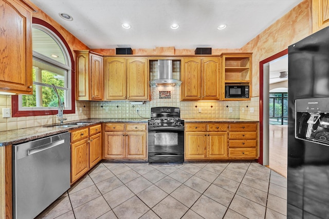
[[[179,108],[151,108],[148,129],[149,163],[184,162],[184,120]]]

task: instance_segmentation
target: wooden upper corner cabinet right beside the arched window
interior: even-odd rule
[[[101,101],[103,99],[103,57],[89,50],[76,53],[77,101]]]

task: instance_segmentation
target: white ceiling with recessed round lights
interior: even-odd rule
[[[30,0],[90,49],[241,48],[302,0]],[[66,21],[59,13],[67,13]],[[131,24],[123,29],[122,23]],[[170,29],[172,23],[179,28]],[[226,24],[224,30],[217,26]]]

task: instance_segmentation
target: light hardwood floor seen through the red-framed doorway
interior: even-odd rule
[[[287,177],[287,126],[269,125],[269,168]]]

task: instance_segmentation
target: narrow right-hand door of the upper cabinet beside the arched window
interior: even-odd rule
[[[90,53],[90,99],[103,99],[103,57]]]

